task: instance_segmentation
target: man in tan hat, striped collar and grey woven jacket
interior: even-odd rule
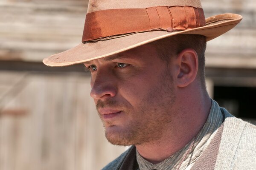
[[[256,127],[209,98],[206,41],[241,21],[205,20],[199,0],[89,2],[80,45],[44,59],[83,63],[109,142],[132,145],[105,170],[256,167]]]

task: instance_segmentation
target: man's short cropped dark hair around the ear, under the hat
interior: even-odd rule
[[[163,62],[169,62],[171,57],[176,57],[186,48],[192,48],[198,54],[198,78],[205,88],[205,50],[206,37],[197,34],[178,34],[172,37],[164,38],[151,42],[155,45],[159,57]]]

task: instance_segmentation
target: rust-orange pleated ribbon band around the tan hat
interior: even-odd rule
[[[108,9],[86,15],[82,42],[143,31],[180,31],[205,25],[203,9],[192,6]]]

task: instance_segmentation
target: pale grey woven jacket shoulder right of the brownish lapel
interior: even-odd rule
[[[215,169],[255,169],[256,126],[221,110],[226,118]]]

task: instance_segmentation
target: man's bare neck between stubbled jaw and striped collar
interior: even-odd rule
[[[177,103],[188,107],[179,109],[175,121],[160,132],[164,135],[158,140],[136,145],[140,155],[153,164],[167,159],[186,146],[204,126],[211,108],[211,99],[207,94],[198,95],[198,99],[180,98]]]

